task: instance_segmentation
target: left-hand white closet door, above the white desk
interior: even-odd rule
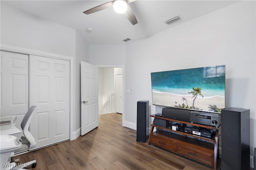
[[[28,55],[1,51],[1,116],[28,111]]]

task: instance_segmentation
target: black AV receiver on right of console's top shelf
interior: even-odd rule
[[[220,113],[191,111],[190,112],[190,122],[191,123],[201,123],[201,124],[205,124],[205,125],[219,127],[221,124],[221,114]]]

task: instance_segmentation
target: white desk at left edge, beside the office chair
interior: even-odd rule
[[[13,121],[16,118],[16,116],[4,116],[0,117],[0,121],[11,121],[11,124],[8,125],[0,125],[0,134],[1,135],[13,135],[17,138],[21,137],[21,130],[18,129],[14,124]]]

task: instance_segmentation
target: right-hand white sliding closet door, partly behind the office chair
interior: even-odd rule
[[[70,138],[70,61],[30,56],[30,132],[34,149]]]

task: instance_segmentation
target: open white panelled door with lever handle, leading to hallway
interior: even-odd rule
[[[81,61],[81,135],[98,127],[98,67]]]

